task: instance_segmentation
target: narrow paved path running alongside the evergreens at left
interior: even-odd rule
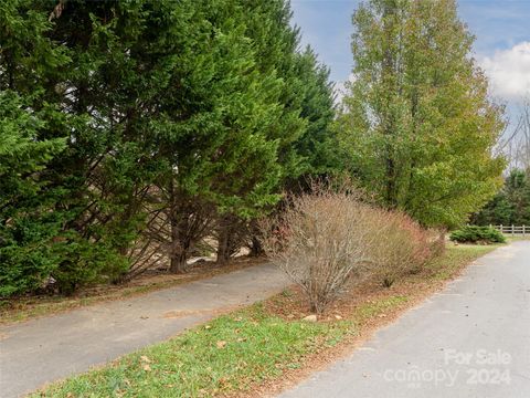
[[[163,341],[220,312],[266,298],[289,282],[265,264],[134,298],[0,327],[0,397],[87,370]]]

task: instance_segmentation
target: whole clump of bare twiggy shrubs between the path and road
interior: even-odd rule
[[[439,239],[409,216],[370,205],[354,189],[316,186],[290,197],[282,213],[262,221],[271,260],[321,313],[346,287],[367,277],[390,286],[422,270]]]

